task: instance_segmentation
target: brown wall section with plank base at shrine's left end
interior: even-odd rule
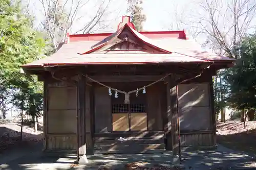
[[[57,82],[47,85],[45,150],[76,149],[76,87]]]

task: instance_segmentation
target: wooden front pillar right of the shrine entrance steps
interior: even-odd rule
[[[178,93],[177,82],[169,76],[168,78],[168,120],[171,121],[172,129],[172,150],[173,155],[180,155],[179,142],[180,142],[180,129],[179,129],[179,113],[178,113]],[[170,141],[168,141],[169,143]]]

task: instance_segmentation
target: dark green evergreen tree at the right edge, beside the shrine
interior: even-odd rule
[[[243,38],[239,58],[228,79],[231,85],[229,102],[237,109],[255,109],[256,35]]]

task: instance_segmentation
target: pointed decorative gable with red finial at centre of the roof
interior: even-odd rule
[[[135,51],[136,53],[172,53],[159,47],[158,45],[154,44],[151,39],[135,31],[133,23],[130,22],[130,17],[124,16],[115,33],[93,45],[92,50],[78,54],[84,55],[90,53],[109,53],[116,51],[123,51],[122,53],[132,53]]]

